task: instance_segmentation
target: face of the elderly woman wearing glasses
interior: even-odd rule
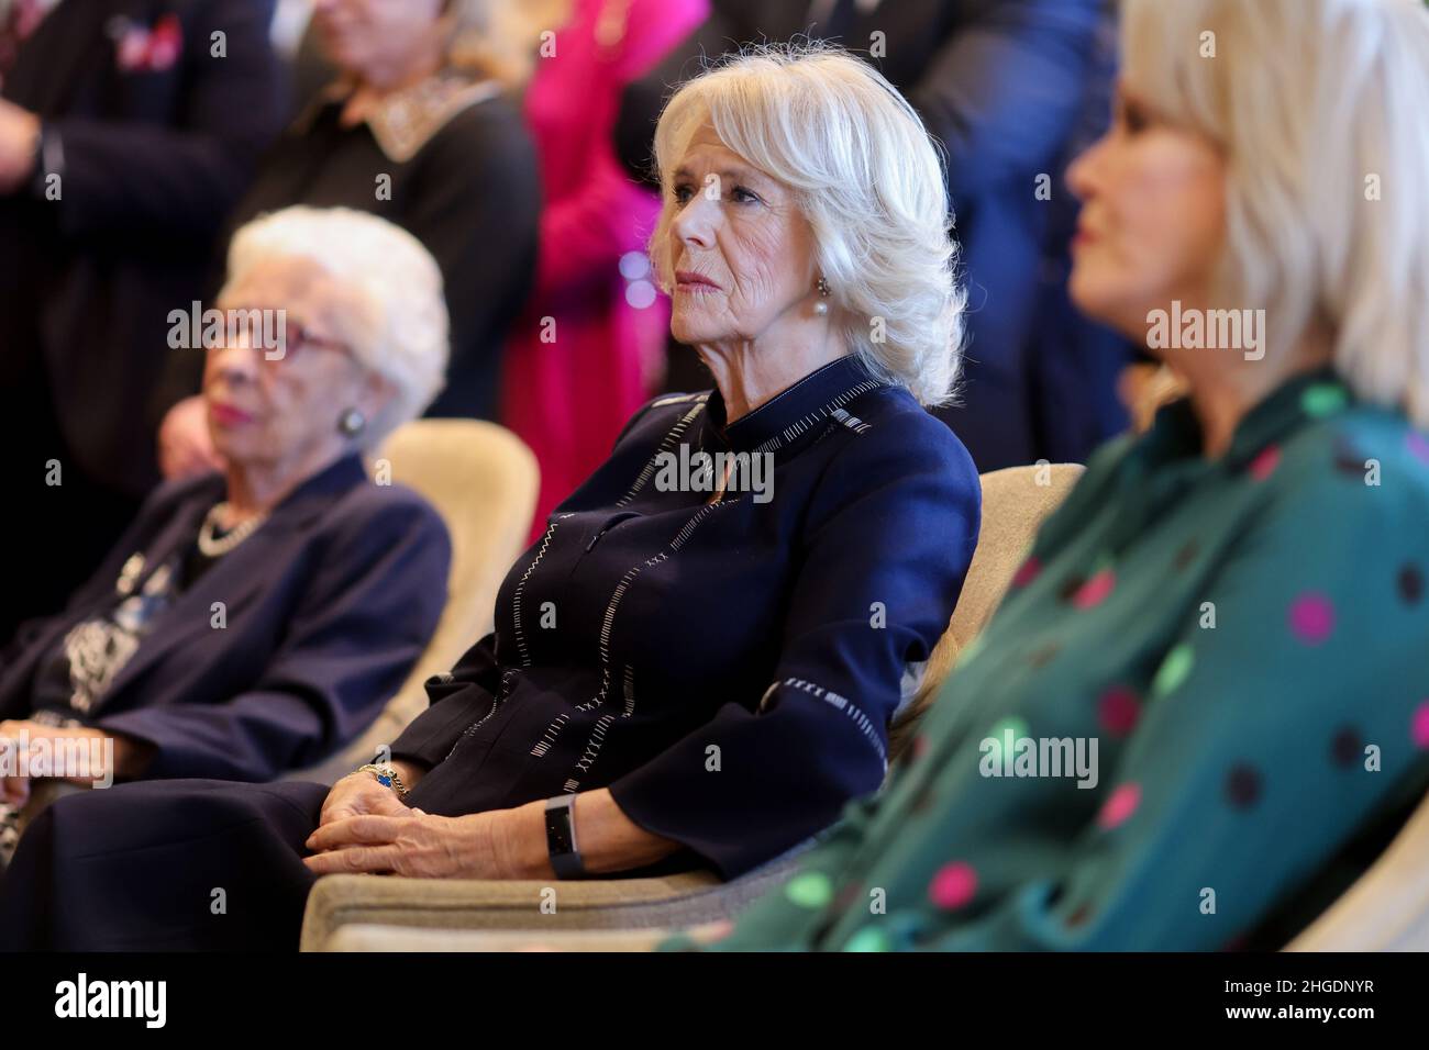
[[[250,311],[229,329],[231,339],[226,331],[209,347],[203,370],[209,431],[231,464],[336,456],[347,443],[342,414],[357,409],[372,420],[394,393],[353,357],[357,303],[312,260],[262,261],[214,306],[224,317]]]

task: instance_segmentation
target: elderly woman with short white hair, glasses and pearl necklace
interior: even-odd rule
[[[187,337],[224,470],[159,489],[4,656],[0,866],[27,773],[270,780],[364,729],[442,613],[442,520],[363,466],[442,386],[436,263],[382,219],[290,209],[239,231],[214,309]],[[29,761],[91,743],[99,767]]]

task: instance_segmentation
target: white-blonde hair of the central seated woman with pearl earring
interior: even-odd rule
[[[829,44],[762,44],[680,87],[654,131],[664,206],[650,259],[673,286],[673,171],[693,133],[720,141],[789,186],[815,239],[845,336],[873,376],[923,404],[952,397],[966,294],[942,156],[903,96],[865,61]]]

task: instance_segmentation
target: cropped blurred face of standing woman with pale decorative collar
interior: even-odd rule
[[[382,79],[424,50],[443,0],[316,0],[313,24],[323,50],[346,73]]]

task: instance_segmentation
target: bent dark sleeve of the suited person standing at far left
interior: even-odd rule
[[[183,97],[171,123],[46,121],[64,156],[59,206],[66,233],[209,239],[219,231],[284,116],[284,76],[267,36],[272,14],[273,0],[183,9]],[[211,54],[220,31],[226,57]]]

